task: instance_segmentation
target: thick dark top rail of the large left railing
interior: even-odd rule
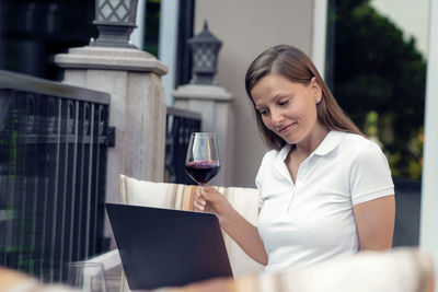
[[[110,104],[110,94],[106,92],[68,85],[4,70],[0,70],[1,89],[28,91],[77,101]]]

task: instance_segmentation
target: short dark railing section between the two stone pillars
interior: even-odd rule
[[[193,185],[184,163],[192,132],[200,131],[200,114],[168,106],[164,182]]]

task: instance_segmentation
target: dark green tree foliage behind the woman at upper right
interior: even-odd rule
[[[415,39],[404,39],[368,0],[337,1],[330,19],[335,25],[332,90],[339,105],[365,132],[376,113],[373,131],[393,175],[419,178],[426,61]]]

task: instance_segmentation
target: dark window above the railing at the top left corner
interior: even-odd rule
[[[94,0],[2,0],[0,68],[60,80],[51,56],[97,35]]]

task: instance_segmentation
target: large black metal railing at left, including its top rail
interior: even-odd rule
[[[0,266],[57,282],[103,250],[108,104],[0,71]]]

